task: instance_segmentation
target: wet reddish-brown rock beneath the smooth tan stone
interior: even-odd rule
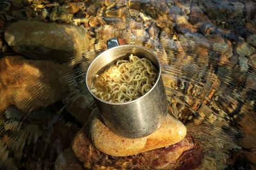
[[[203,158],[202,150],[189,134],[175,145],[129,157],[110,157],[99,152],[85,132],[86,127],[77,132],[72,150],[86,169],[188,169],[199,166]]]

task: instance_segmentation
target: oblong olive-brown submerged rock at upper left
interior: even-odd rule
[[[14,52],[60,63],[81,61],[89,43],[85,29],[33,20],[20,20],[8,26],[4,39]]]

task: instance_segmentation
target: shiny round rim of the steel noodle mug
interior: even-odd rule
[[[95,60],[97,60],[98,58],[100,58],[102,55],[104,55],[104,53],[107,53],[109,50],[115,50],[116,48],[122,48],[124,46],[135,46],[136,48],[143,48],[143,50],[146,50],[147,52],[151,53],[155,59],[157,60],[157,64],[158,64],[158,67],[159,67],[159,74],[157,76],[157,79],[156,79],[156,83],[153,85],[153,87],[147,92],[145,93],[143,96],[140,96],[138,97],[138,99],[134,99],[132,101],[127,101],[127,102],[124,102],[124,103],[112,103],[112,102],[108,102],[108,101],[104,101],[103,99],[100,99],[99,97],[95,96],[95,94],[93,94],[92,90],[90,87],[88,87],[88,70],[90,70],[92,67],[93,67],[93,63],[95,62]],[[150,60],[151,61],[151,60]],[[151,61],[152,62],[152,61]],[[105,67],[105,66],[104,66]],[[111,105],[124,105],[124,104],[130,104],[130,103],[134,103],[136,101],[138,101],[139,99],[147,96],[150,92],[152,92],[152,90],[154,90],[157,86],[157,83],[159,82],[160,78],[161,78],[161,64],[160,64],[160,61],[159,59],[157,58],[157,56],[151,52],[150,50],[148,50],[147,48],[145,48],[144,46],[140,46],[140,45],[119,45],[119,46],[115,46],[113,48],[109,48],[108,50],[105,50],[104,52],[100,53],[97,57],[95,57],[95,59],[92,60],[90,66],[88,67],[87,71],[86,71],[86,87],[87,89],[89,90],[90,94],[92,94],[92,96],[97,99],[98,101],[102,102],[102,103],[106,103],[106,104],[111,104]],[[93,75],[95,76],[95,75]]]

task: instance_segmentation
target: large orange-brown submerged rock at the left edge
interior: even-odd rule
[[[31,111],[56,103],[65,97],[70,79],[67,67],[21,56],[1,58],[0,77],[0,113],[10,104]]]

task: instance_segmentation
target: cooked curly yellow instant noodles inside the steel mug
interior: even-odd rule
[[[97,75],[92,92],[104,101],[124,103],[146,94],[156,83],[156,78],[157,69],[150,60],[131,54],[129,60],[118,60]]]

